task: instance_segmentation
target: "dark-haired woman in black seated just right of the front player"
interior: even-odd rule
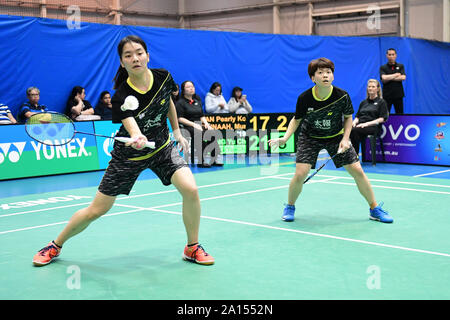
[[[206,161],[203,159],[203,150],[209,144],[209,141],[205,141],[204,135],[206,131],[213,130],[213,128],[203,114],[202,101],[195,93],[195,86],[192,81],[184,81],[181,84],[181,94],[177,101],[176,109],[181,132],[185,138],[191,138],[191,163],[194,163],[194,155],[197,154],[199,167],[222,166],[223,163],[218,159],[219,157],[216,157],[216,153],[217,155],[220,153],[220,147],[216,138],[211,142],[214,144],[214,149],[211,151],[211,160]],[[201,150],[195,150],[194,137],[202,139]]]

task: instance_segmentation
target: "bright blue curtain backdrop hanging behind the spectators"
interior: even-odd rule
[[[355,112],[366,82],[379,79],[388,48],[405,65],[405,112],[450,114],[450,43],[399,37],[294,36],[179,30],[81,23],[0,15],[0,102],[13,114],[36,86],[42,104],[63,112],[72,87],[83,86],[96,105],[113,92],[117,44],[137,34],[148,44],[151,68],[168,69],[179,84],[191,80],[204,101],[219,81],[228,100],[244,88],[254,112],[294,112],[298,95],[313,84],[308,63],[327,57],[336,65],[334,85],[349,92]]]

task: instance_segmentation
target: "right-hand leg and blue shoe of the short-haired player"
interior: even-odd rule
[[[352,164],[344,165],[344,168],[353,177],[358,187],[359,193],[361,193],[361,195],[369,204],[370,219],[386,223],[393,222],[394,220],[392,219],[392,217],[388,214],[387,211],[382,208],[383,203],[380,203],[379,205],[377,204],[372,185],[370,184],[369,179],[364,173],[361,167],[361,163],[358,161]]]

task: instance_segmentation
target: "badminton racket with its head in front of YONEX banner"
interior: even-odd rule
[[[75,138],[77,133],[114,139],[124,143],[134,141],[134,139],[127,137],[111,137],[77,131],[73,121],[68,116],[58,112],[42,112],[32,115],[25,123],[25,131],[32,139],[49,146],[67,144]],[[145,146],[154,149],[155,142],[147,141]]]

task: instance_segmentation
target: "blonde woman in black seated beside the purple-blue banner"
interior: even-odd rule
[[[388,117],[387,104],[382,98],[380,83],[378,80],[370,79],[367,81],[367,98],[359,105],[350,133],[350,140],[357,154],[359,154],[359,144],[368,135],[378,134],[381,129],[380,124]]]

